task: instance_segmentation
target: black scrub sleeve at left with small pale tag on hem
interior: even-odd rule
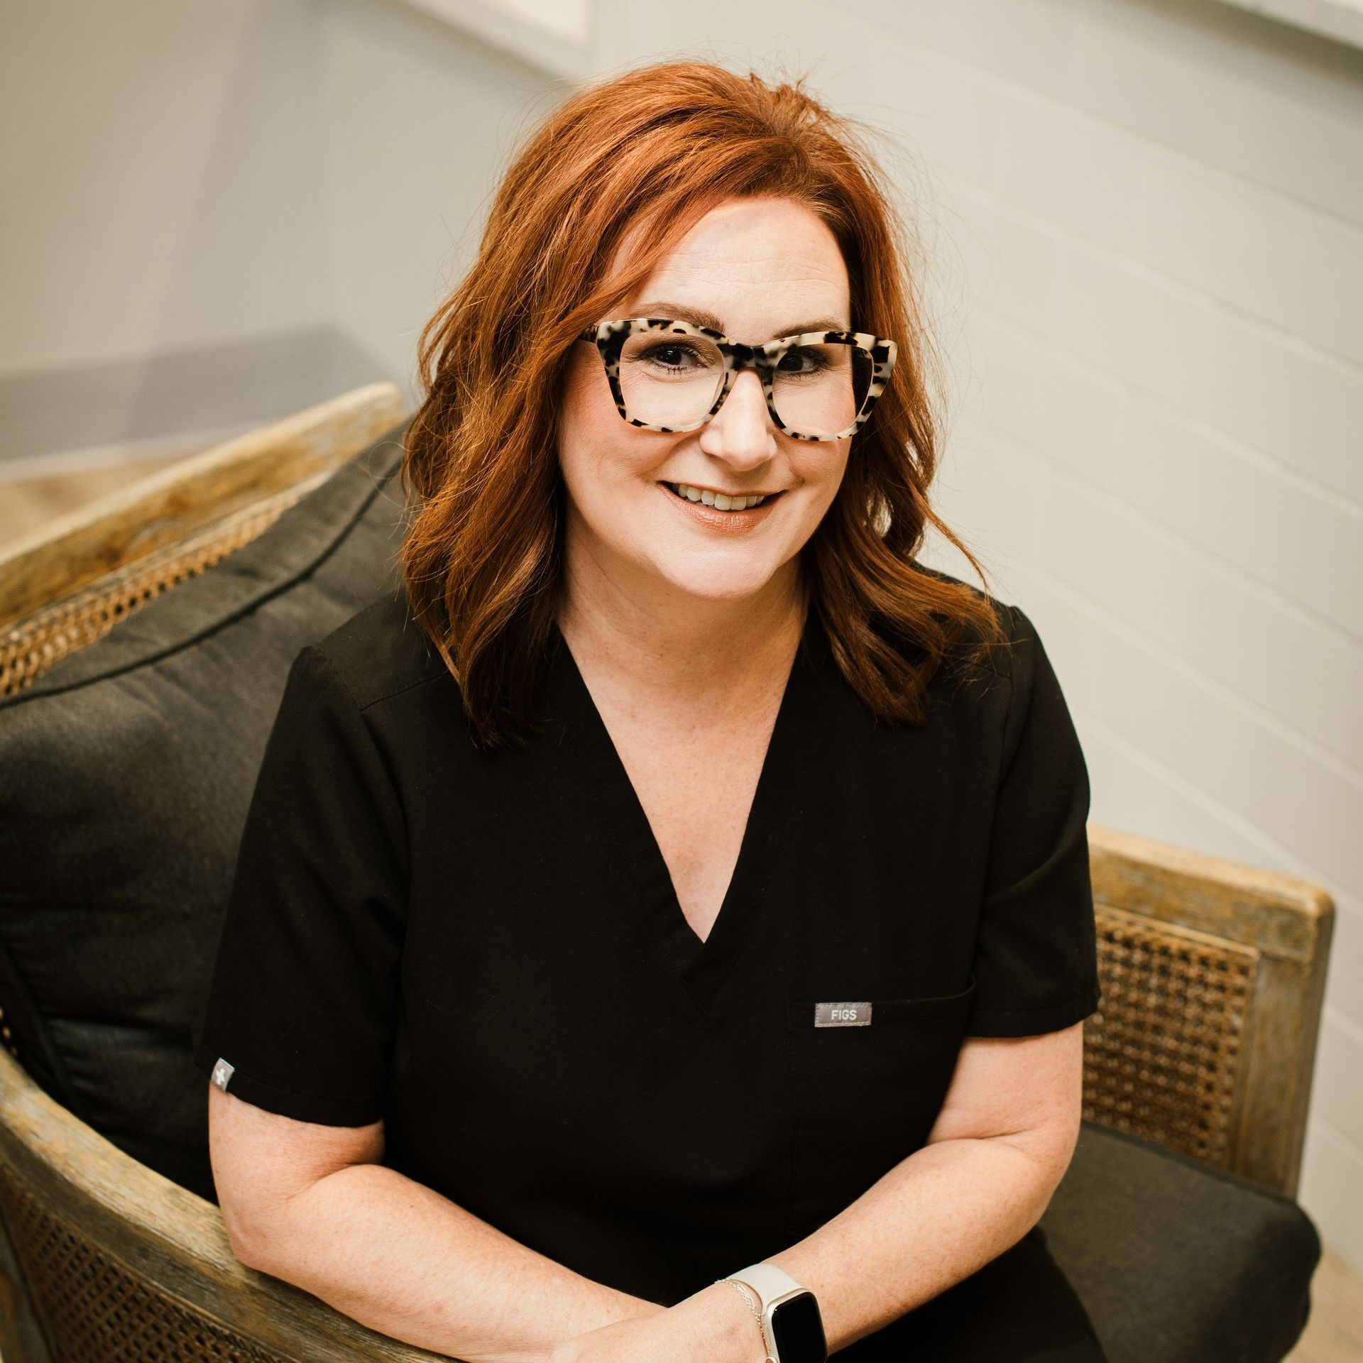
[[[251,796],[195,1066],[271,1112],[376,1122],[406,875],[388,767],[335,665],[309,645],[289,671]]]

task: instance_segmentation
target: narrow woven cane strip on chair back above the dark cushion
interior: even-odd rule
[[[285,488],[169,544],[18,620],[0,637],[0,695],[42,676],[68,653],[108,634],[153,597],[192,578],[267,530],[316,485]]]

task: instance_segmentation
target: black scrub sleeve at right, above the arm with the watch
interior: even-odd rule
[[[1010,699],[968,1036],[1058,1032],[1101,998],[1088,767],[1036,627],[1017,607],[1005,609]]]

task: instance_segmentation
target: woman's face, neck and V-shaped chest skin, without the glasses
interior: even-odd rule
[[[622,260],[628,249],[626,240]],[[720,204],[613,318],[596,320],[671,315],[654,303],[703,309],[744,345],[801,330],[792,323],[851,323],[833,234],[781,199]],[[560,394],[560,626],[702,940],[732,879],[800,637],[799,552],[851,443],[785,435],[751,369],[695,431],[630,425],[597,348],[572,346]],[[664,483],[781,495],[740,512],[751,518],[741,529],[716,523],[722,511],[698,515]]]

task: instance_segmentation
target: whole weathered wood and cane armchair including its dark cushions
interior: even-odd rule
[[[68,716],[61,706],[117,686],[124,690],[98,711],[101,722],[131,725],[151,692],[129,695],[129,677],[170,657],[181,671],[157,703],[191,705],[222,658],[263,638],[243,634],[247,624],[273,611],[270,628],[286,632],[271,635],[262,656],[255,701],[236,695],[243,714],[254,706],[244,752],[228,752],[219,735],[183,767],[158,769],[158,781],[183,780],[184,789],[158,791],[157,800],[196,806],[199,780],[234,792],[218,821],[226,833],[200,856],[209,908],[194,931],[207,938],[203,954],[215,942],[210,915],[221,908],[215,887],[230,875],[241,791],[298,631],[320,637],[350,600],[393,581],[406,508],[383,488],[393,483],[401,421],[391,384],[360,388],[183,461],[0,553],[0,770],[7,754],[31,761],[34,744],[56,732],[49,710]],[[343,590],[333,582],[318,596],[337,564],[348,574]],[[224,638],[234,641],[226,653]],[[209,672],[184,671],[198,649],[219,652]],[[95,665],[101,656],[112,661]],[[113,763],[117,739],[109,739]],[[236,774],[204,774],[206,762]],[[124,830],[136,827],[139,810]],[[1295,1193],[1333,905],[1287,876],[1093,825],[1089,838],[1103,1005],[1085,1024],[1084,1129],[1041,1221],[1047,1242],[1112,1363],[1283,1359],[1306,1323],[1321,1253]],[[202,1150],[181,1157],[170,1149],[187,1127],[139,1144],[146,1133],[128,1120],[157,1126],[158,1100],[139,1099],[132,1119],[119,1118],[98,1086],[102,1062],[91,1069],[80,1048],[87,1020],[52,1005],[49,979],[25,973],[31,943],[3,849],[0,841],[5,1363],[439,1358],[234,1258],[195,1163]],[[106,927],[91,921],[91,931]],[[45,1017],[45,1000],[65,1014]],[[194,1003],[191,991],[183,1007],[192,1013]],[[151,1005],[140,999],[138,1009],[135,1022]],[[102,1039],[108,1020],[98,1021]],[[183,1017],[157,1035],[169,1037],[162,1052],[181,1039],[188,1051]],[[112,1051],[98,1054],[121,1063]],[[157,1063],[174,1062],[158,1054]],[[83,1065],[75,1077],[64,1067],[72,1055]],[[139,1066],[127,1073],[142,1075],[151,1062]],[[179,1084],[173,1065],[165,1073]],[[206,1105],[187,1055],[183,1073]],[[149,1089],[158,1092],[164,1085]],[[206,1131],[195,1137],[206,1142]]]

